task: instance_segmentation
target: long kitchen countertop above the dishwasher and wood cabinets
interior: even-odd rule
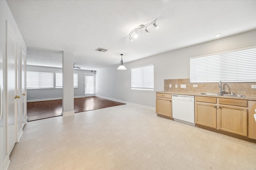
[[[200,94],[200,93],[204,93],[204,92],[158,91],[156,93],[181,94],[181,95],[190,95],[190,96],[202,96],[202,97],[214,97],[214,98],[227,98],[227,99],[239,99],[239,100],[253,100],[253,101],[256,101],[256,96],[249,96],[249,95],[245,95],[246,97],[244,98],[244,97],[236,97],[236,96],[218,96],[218,95],[216,96],[216,95]]]

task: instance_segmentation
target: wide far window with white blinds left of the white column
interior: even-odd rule
[[[54,88],[53,72],[27,72],[27,88]]]

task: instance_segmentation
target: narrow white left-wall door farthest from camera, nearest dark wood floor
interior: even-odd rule
[[[21,121],[22,128],[27,121],[27,98],[26,98],[26,54],[21,49]]]

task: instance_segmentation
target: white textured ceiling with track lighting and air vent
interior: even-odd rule
[[[256,29],[255,0],[7,0],[28,47],[27,64],[62,66],[72,51],[85,70],[124,64]],[[159,29],[138,25],[157,18]],[[98,47],[107,52],[95,51]],[[54,61],[54,62],[53,62]]]

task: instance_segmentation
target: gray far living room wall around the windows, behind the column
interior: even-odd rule
[[[62,68],[27,65],[27,71],[54,72],[54,86],[55,86],[55,72],[62,72]],[[85,73],[92,74],[94,73],[94,71],[92,72],[91,70],[75,69],[74,73],[78,74],[78,88],[74,88],[74,97],[83,97],[84,96],[84,74]],[[27,94],[28,94],[27,95],[28,102],[60,99],[62,98],[62,88],[27,89]]]

